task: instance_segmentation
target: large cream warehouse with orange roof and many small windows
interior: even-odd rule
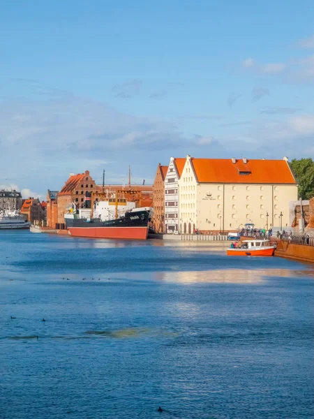
[[[287,159],[194,159],[186,157],[179,184],[179,230],[227,232],[290,228],[289,203],[298,199]],[[282,214],[282,215],[281,215]]]

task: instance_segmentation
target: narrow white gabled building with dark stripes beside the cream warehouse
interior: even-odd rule
[[[179,179],[186,159],[171,157],[165,176],[165,233],[179,231]]]

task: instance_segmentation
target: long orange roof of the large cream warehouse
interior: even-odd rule
[[[296,184],[285,160],[191,159],[198,182]]]

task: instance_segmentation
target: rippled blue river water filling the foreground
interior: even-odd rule
[[[314,418],[313,266],[28,231],[0,261],[1,419]]]

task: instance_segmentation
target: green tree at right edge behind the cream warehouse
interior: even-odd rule
[[[314,196],[314,161],[308,159],[293,159],[291,169],[299,184],[299,198],[311,199]]]

